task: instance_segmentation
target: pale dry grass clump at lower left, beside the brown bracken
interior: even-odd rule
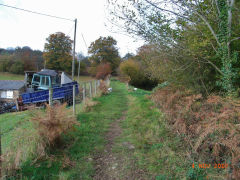
[[[2,155],[3,174],[11,176],[27,159],[35,161],[43,156],[45,149],[37,131],[32,126],[16,128],[10,145]]]

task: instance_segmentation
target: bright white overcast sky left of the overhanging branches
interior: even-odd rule
[[[135,53],[143,42],[111,33],[105,26],[106,0],[0,0],[0,3],[68,19],[77,18],[76,52],[87,55],[87,46],[100,36],[111,35],[117,40],[121,56]],[[49,34],[64,32],[73,39],[74,22],[35,15],[0,6],[0,48],[29,46],[43,50]]]

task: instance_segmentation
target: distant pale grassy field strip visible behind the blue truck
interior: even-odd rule
[[[78,77],[75,76],[74,79],[78,80]],[[24,75],[0,72],[0,80],[24,80]],[[93,80],[93,78],[90,76],[80,76],[80,82],[91,81],[91,80]]]

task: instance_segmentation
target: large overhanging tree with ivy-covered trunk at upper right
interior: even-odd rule
[[[176,64],[169,67],[170,71],[197,72],[202,78],[195,83],[203,87],[212,80],[226,92],[236,87],[240,66],[239,2],[110,0],[109,7],[111,22],[154,45],[159,61],[167,59]],[[208,77],[210,74],[213,79]]]

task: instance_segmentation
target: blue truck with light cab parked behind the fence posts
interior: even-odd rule
[[[67,102],[71,105],[73,87],[76,95],[79,93],[78,83],[66,73],[43,69],[39,72],[25,72],[26,92],[18,98],[18,109],[24,105],[41,105],[49,102],[49,91],[52,90],[53,102]]]

